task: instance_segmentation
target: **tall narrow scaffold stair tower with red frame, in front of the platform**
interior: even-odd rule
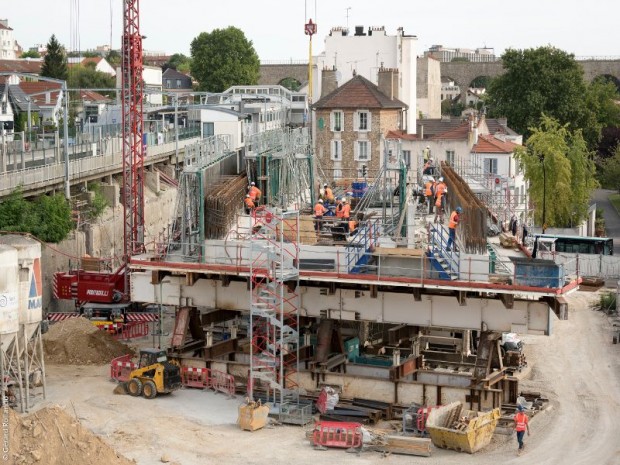
[[[259,208],[250,239],[250,373],[259,390],[290,415],[299,386],[299,212]]]

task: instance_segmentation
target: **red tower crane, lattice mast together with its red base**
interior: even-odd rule
[[[140,0],[123,0],[122,43],[122,125],[123,125],[123,257],[114,273],[77,269],[54,274],[54,297],[73,299],[77,307],[85,303],[129,301],[127,264],[132,255],[144,252],[144,155],[142,35]]]

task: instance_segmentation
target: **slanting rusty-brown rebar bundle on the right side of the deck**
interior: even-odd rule
[[[441,163],[441,174],[448,186],[447,212],[460,206],[459,236],[463,251],[471,254],[487,252],[488,212],[469,185],[448,164]]]

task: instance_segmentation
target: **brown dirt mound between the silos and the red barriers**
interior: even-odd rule
[[[115,357],[133,353],[85,318],[70,318],[51,325],[43,335],[43,347],[47,362],[63,365],[104,365]]]

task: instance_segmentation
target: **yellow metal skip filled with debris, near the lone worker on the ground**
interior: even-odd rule
[[[475,412],[453,402],[431,411],[426,430],[436,447],[473,454],[491,442],[499,417],[498,408]]]

